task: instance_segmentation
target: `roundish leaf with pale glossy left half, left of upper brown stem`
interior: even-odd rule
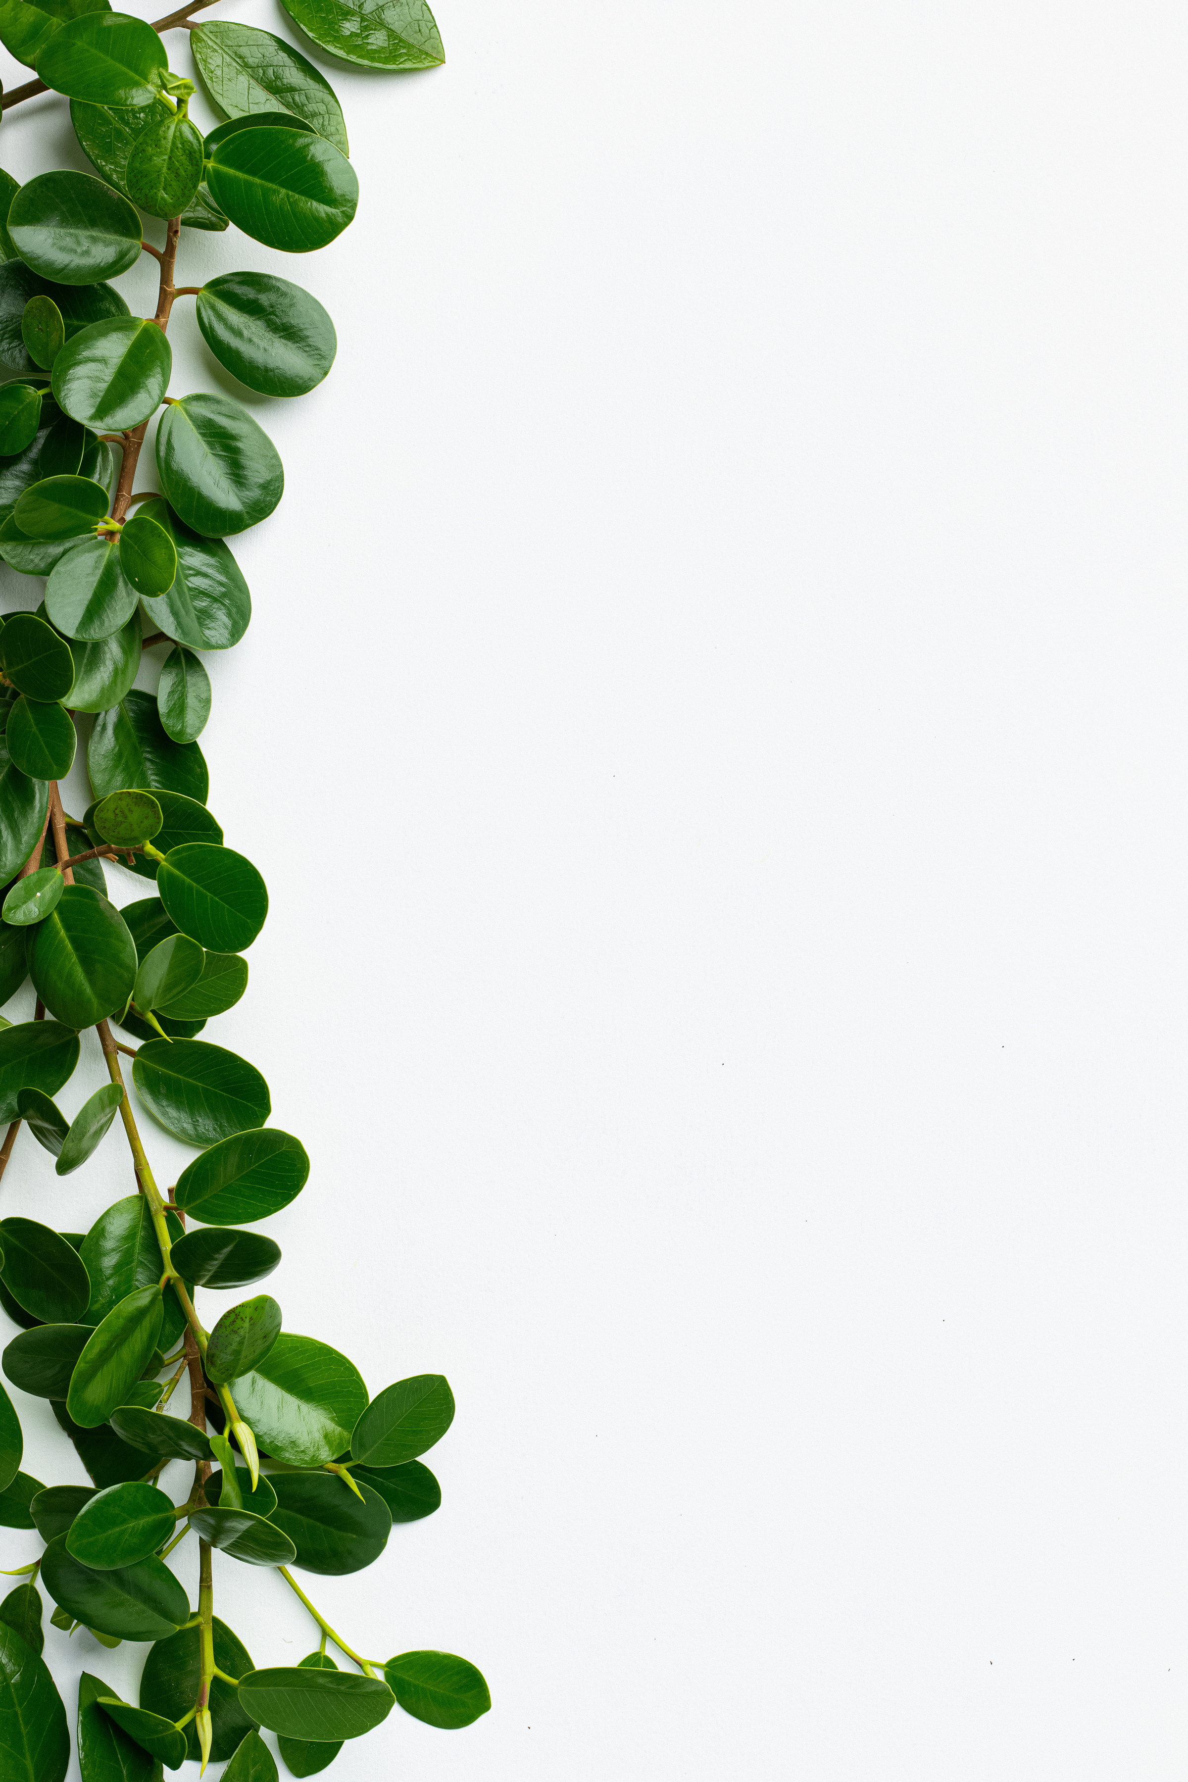
[[[96,433],[123,433],[160,406],[171,369],[173,353],[157,323],[114,315],[82,328],[62,347],[53,364],[53,396],[59,408]]]

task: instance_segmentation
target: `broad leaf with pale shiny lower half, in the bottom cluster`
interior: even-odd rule
[[[235,1381],[233,1397],[265,1454],[290,1467],[324,1467],[349,1449],[367,1386],[337,1349],[283,1331],[264,1361]]]

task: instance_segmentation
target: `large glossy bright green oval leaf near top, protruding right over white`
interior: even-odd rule
[[[258,127],[223,137],[207,162],[207,184],[244,235],[281,253],[324,248],[358,205],[358,176],[347,157],[306,130]]]

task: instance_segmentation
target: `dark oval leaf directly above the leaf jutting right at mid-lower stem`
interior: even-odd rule
[[[132,1080],[153,1119],[189,1144],[230,1139],[262,1126],[273,1112],[269,1085],[255,1066],[203,1039],[150,1041],[132,1064]]]

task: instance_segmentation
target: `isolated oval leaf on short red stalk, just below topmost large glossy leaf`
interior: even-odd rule
[[[208,280],[198,292],[198,326],[219,364],[264,396],[305,396],[338,351],[335,324],[317,298],[271,273]]]

